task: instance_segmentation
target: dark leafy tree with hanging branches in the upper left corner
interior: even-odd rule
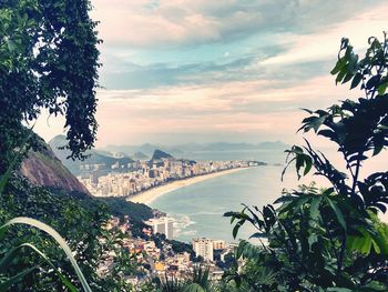
[[[71,157],[95,140],[96,22],[88,0],[0,0],[0,173],[42,108],[65,117]]]

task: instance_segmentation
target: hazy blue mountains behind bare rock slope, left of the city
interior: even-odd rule
[[[93,165],[93,164],[103,164],[106,170],[111,170],[113,165],[119,163],[120,170],[126,170],[127,164],[133,162],[134,160],[130,157],[121,157],[114,158],[111,152],[106,152],[105,150],[89,150],[85,152],[89,158],[84,160],[71,160],[67,159],[70,155],[70,151],[67,149],[60,150],[59,147],[63,147],[67,144],[67,139],[64,135],[57,135],[50,142],[50,147],[52,148],[55,155],[63,162],[63,164],[75,175],[79,175],[82,171],[81,168],[84,165]]]

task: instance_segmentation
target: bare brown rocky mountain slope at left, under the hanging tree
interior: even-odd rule
[[[38,138],[39,139],[39,138]],[[50,145],[39,139],[40,149],[30,150],[21,164],[20,172],[30,182],[67,192],[89,194],[85,187],[62,164]]]

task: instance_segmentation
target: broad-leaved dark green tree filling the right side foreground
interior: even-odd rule
[[[345,100],[327,110],[310,111],[299,130],[314,130],[331,140],[346,163],[339,171],[306,141],[294,145],[288,164],[298,177],[315,171],[330,183],[285,192],[273,205],[247,207],[225,215],[237,220],[233,234],[245,223],[262,241],[256,246],[242,241],[238,258],[248,269],[232,271],[227,280],[248,285],[247,291],[387,291],[388,226],[378,220],[388,203],[388,172],[360,178],[363,163],[388,145],[388,41],[369,38],[359,60],[348,39],[343,39],[338,61],[331,70],[336,83],[350,82],[364,97]],[[254,269],[253,269],[254,268]],[[268,278],[254,278],[266,270]],[[234,280],[234,281],[233,281]]]

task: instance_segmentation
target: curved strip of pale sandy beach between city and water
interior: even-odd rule
[[[237,171],[247,170],[249,168],[238,168],[238,169],[231,169],[231,170],[224,170],[218,172],[213,172],[208,174],[203,174],[194,178],[188,178],[185,180],[178,180],[178,181],[172,181],[170,183],[163,184],[161,187],[152,188],[147,191],[141,192],[139,194],[132,195],[127,199],[127,201],[134,202],[134,203],[143,203],[143,204],[150,204],[152,201],[154,201],[156,198],[166,194],[169,192],[172,192],[176,189],[187,187],[201,181],[214,179],[221,175],[231,174]]]

